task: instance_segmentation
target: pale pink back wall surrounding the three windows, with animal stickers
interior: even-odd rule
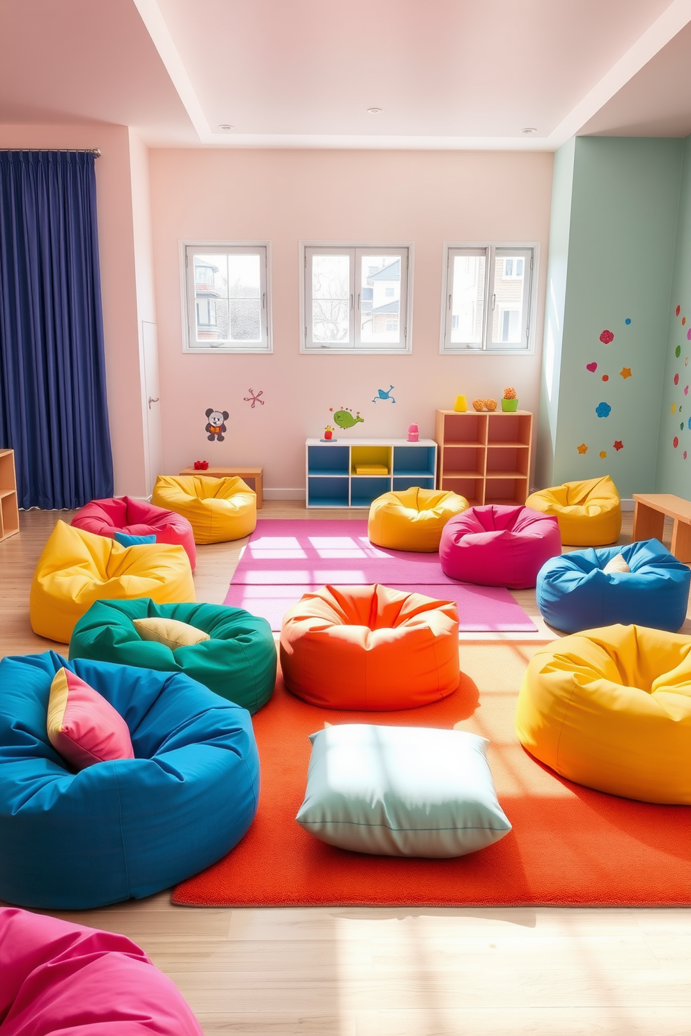
[[[404,436],[413,421],[432,436],[435,409],[458,393],[498,398],[507,384],[537,410],[551,154],[161,149],[149,165],[165,471],[199,458],[263,464],[267,487],[295,490],[305,439],[332,406],[359,410],[357,434],[373,436]],[[182,352],[183,238],[270,240],[272,355]],[[411,355],[299,354],[299,240],[414,241]],[[481,240],[541,244],[535,355],[439,355],[442,244]],[[396,405],[373,404],[390,384]],[[264,406],[243,402],[250,386]],[[223,443],[206,439],[208,407],[230,412]]]

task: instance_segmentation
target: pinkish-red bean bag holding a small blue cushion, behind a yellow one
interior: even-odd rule
[[[71,520],[77,528],[111,540],[114,533],[127,536],[155,536],[156,543],[179,544],[188,552],[194,571],[197,548],[192,525],[174,511],[156,508],[148,500],[135,500],[132,496],[115,496],[110,500],[91,500],[78,511]]]

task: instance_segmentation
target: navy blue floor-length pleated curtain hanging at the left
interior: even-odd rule
[[[0,447],[21,508],[113,495],[89,152],[0,152]]]

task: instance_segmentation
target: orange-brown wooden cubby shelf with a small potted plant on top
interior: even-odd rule
[[[528,410],[437,410],[436,440],[439,489],[460,493],[474,507],[525,503],[532,440]]]

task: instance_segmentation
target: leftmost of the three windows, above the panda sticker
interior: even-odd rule
[[[268,246],[184,244],[185,352],[270,352]]]

